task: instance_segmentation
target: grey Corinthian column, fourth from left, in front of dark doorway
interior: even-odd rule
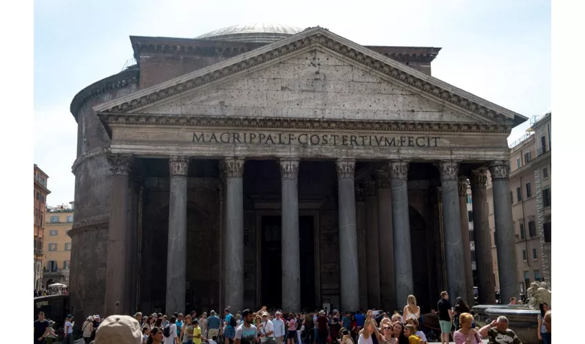
[[[299,160],[281,159],[280,175],[282,183],[282,309],[300,312]]]

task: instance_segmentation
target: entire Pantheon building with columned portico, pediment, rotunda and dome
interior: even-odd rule
[[[492,244],[518,294],[507,137],[526,118],[434,78],[440,48],[269,24],[130,41],[136,63],[71,104],[78,319],[471,303],[468,184],[480,302]]]

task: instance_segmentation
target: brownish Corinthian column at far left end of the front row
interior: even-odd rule
[[[107,273],[105,290],[105,316],[129,312],[127,288],[128,250],[130,237],[128,222],[128,176],[133,157],[131,154],[108,154],[111,166],[111,201],[107,241]],[[120,306],[116,309],[116,302]]]

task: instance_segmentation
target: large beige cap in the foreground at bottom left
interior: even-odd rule
[[[95,344],[142,344],[142,332],[136,319],[127,315],[108,316],[96,331]]]

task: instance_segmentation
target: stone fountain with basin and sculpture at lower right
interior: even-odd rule
[[[538,344],[536,329],[540,303],[546,303],[552,308],[551,295],[545,282],[533,282],[526,290],[528,299],[525,305],[476,305],[472,308],[476,313],[476,328],[503,315],[509,321],[509,328],[518,335],[523,344]]]

